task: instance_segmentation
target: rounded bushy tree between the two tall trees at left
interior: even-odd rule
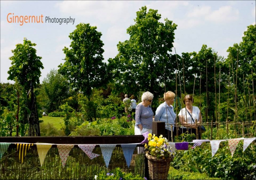
[[[51,69],[42,82],[40,94],[47,113],[56,111],[69,97],[69,83],[57,70]]]

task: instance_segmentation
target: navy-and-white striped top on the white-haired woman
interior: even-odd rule
[[[135,126],[138,127],[138,124],[141,124],[143,128],[152,129],[153,116],[150,106],[145,107],[139,103],[135,109]]]

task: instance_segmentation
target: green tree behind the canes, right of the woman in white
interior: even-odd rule
[[[193,62],[190,71],[194,75],[193,80],[196,76],[195,93],[199,94],[201,88],[201,94],[204,95],[204,102],[206,103],[204,106],[205,116],[206,118],[212,117],[211,119],[215,121],[216,106],[214,102],[216,97],[214,95],[215,90],[216,93],[219,92],[219,68],[222,67],[222,57],[219,57],[212,48],[207,48],[205,44],[198,53],[192,52],[190,56],[192,56],[191,60]],[[224,89],[223,87],[224,84],[221,83],[221,89]],[[187,90],[187,92],[192,94],[193,89]]]

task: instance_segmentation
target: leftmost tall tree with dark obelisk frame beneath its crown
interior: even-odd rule
[[[40,129],[39,129],[39,119],[36,107],[36,96],[33,92],[33,89],[40,84],[39,77],[41,76],[41,68],[44,69],[43,63],[39,57],[36,55],[36,49],[33,48],[36,46],[35,43],[31,43],[27,38],[24,38],[23,44],[16,44],[16,48],[12,50],[13,56],[9,59],[12,60],[12,66],[9,68],[8,71],[9,77],[8,80],[14,80],[18,84],[20,84],[27,95],[27,99],[25,102],[29,108],[29,112],[25,111],[25,117],[28,117],[29,122],[29,132],[28,135],[36,135],[40,136]],[[30,91],[29,91],[30,90]],[[29,93],[28,93],[29,92]],[[30,98],[29,98],[30,94]],[[19,97],[20,93],[17,94],[18,97],[18,106],[17,106],[17,123],[19,123]],[[29,102],[30,101],[30,102]],[[27,121],[24,118],[23,125],[25,125]],[[17,126],[17,135],[18,135],[18,126]]]

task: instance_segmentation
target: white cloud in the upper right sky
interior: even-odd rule
[[[215,22],[226,22],[238,20],[239,11],[231,6],[222,6],[217,11],[213,11],[211,14],[205,17],[205,20]]]

